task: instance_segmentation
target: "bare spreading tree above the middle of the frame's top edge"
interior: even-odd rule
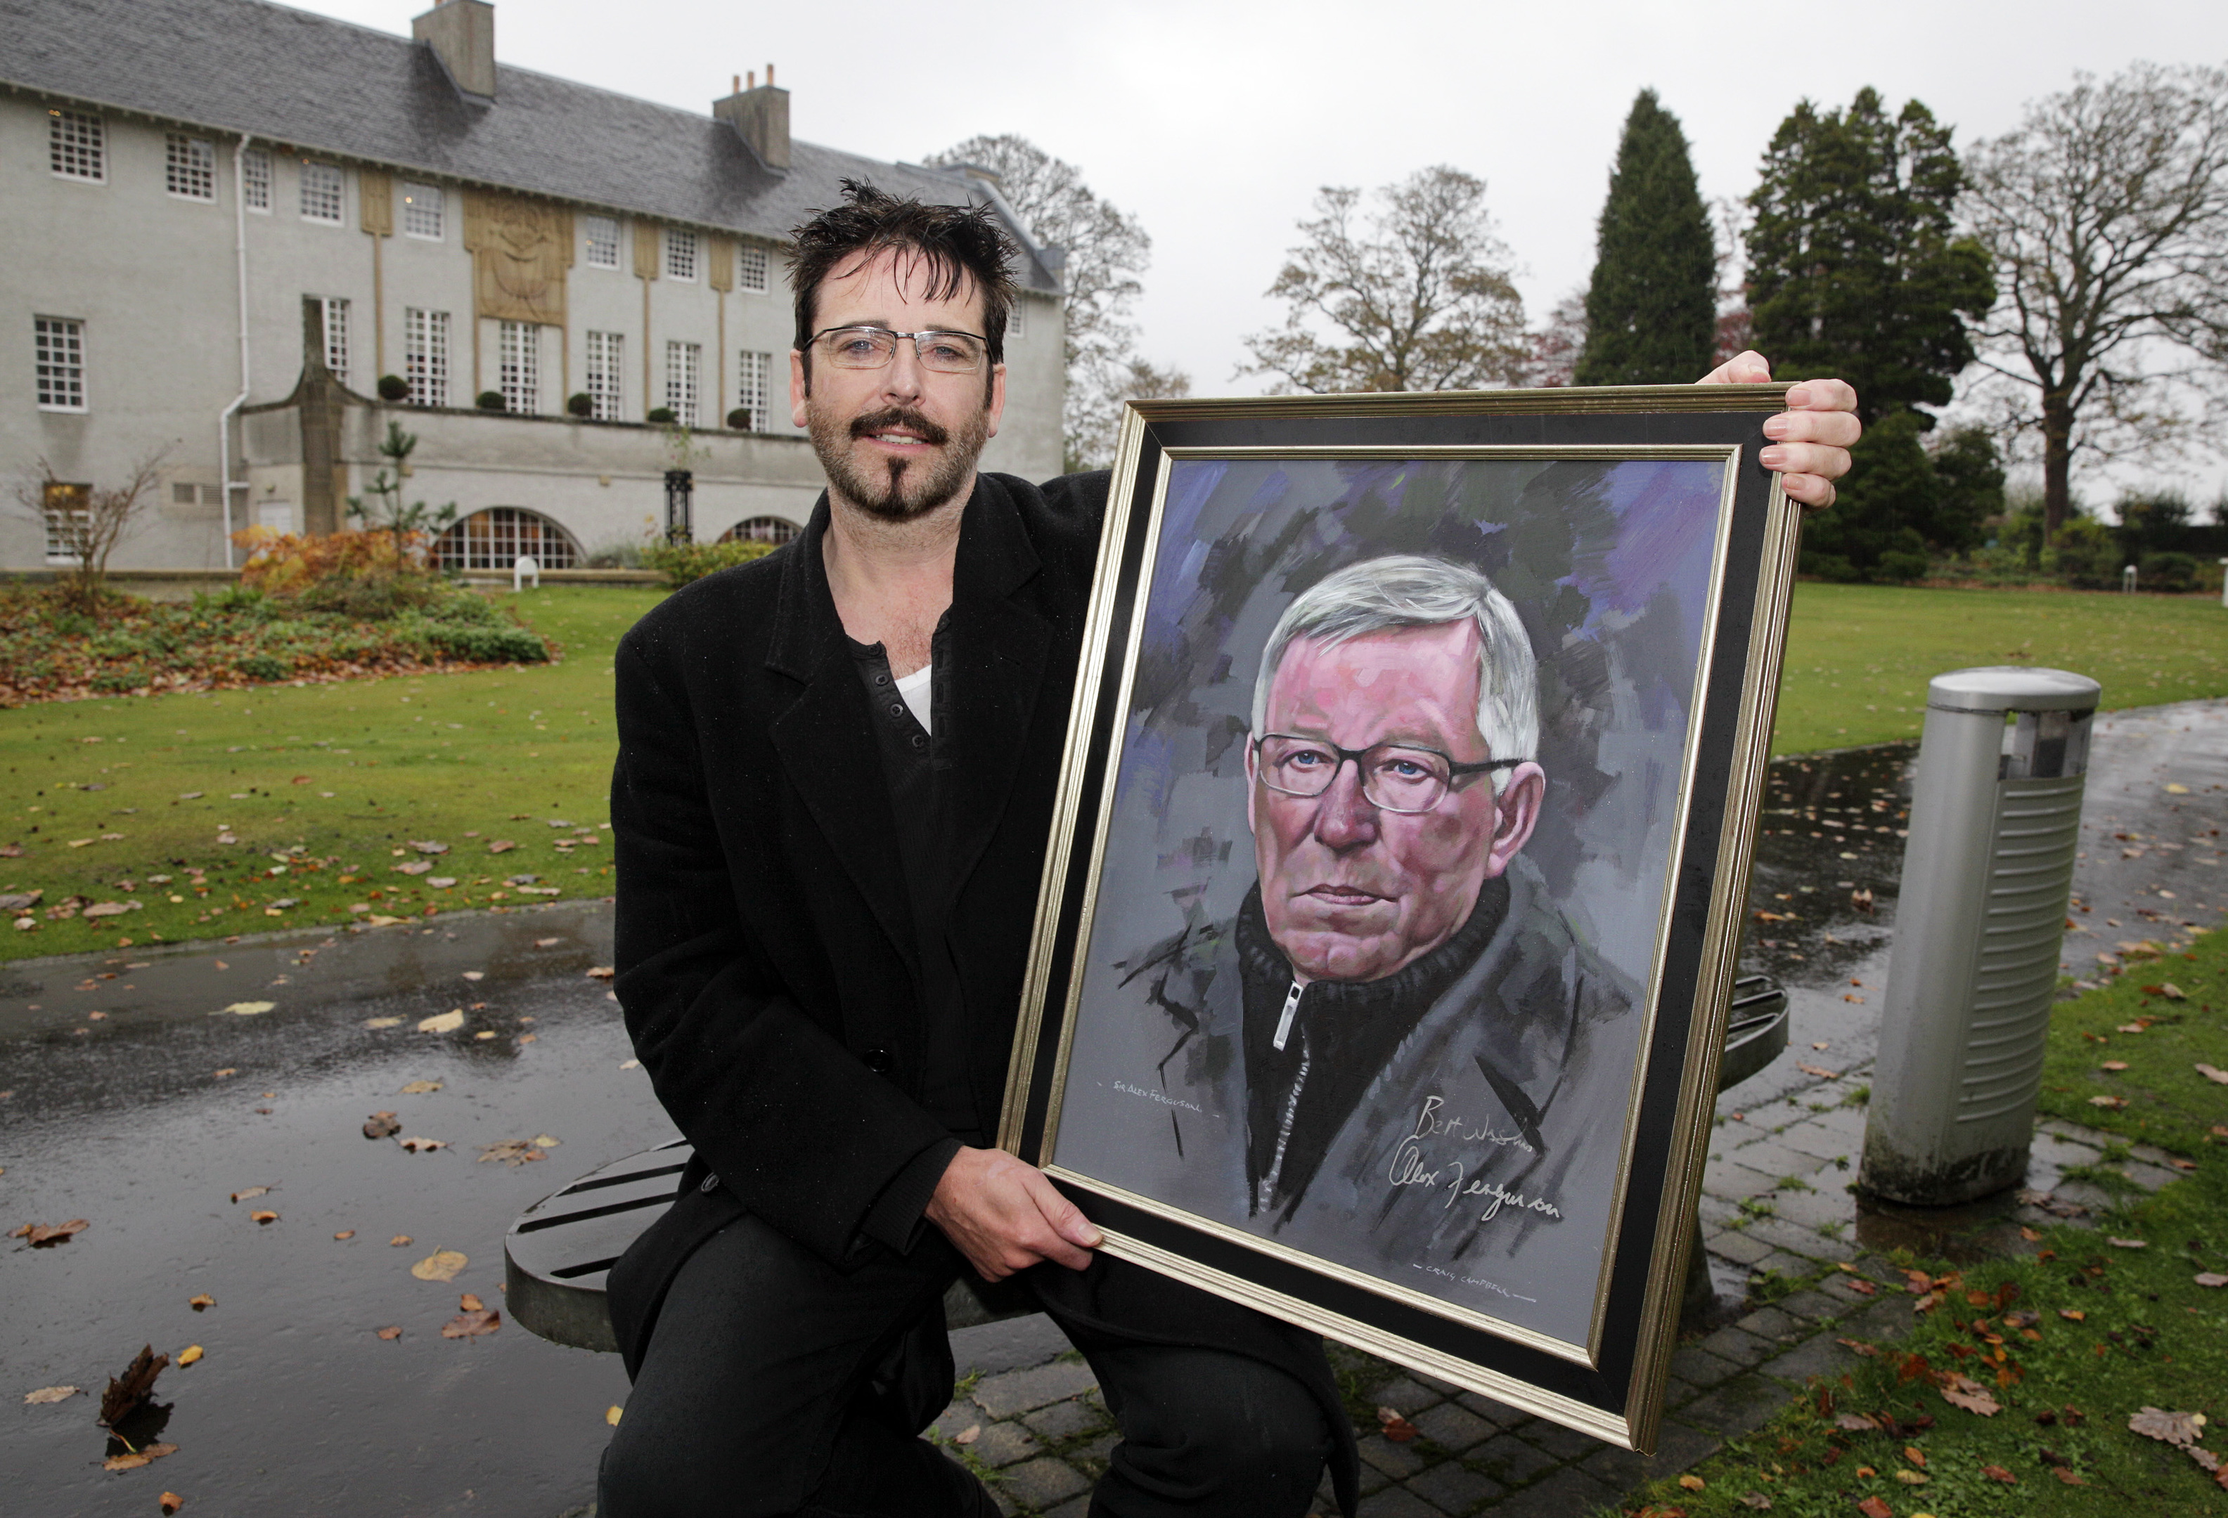
[[[1524,376],[1531,343],[1486,185],[1437,165],[1375,194],[1326,185],[1268,287],[1286,323],[1245,338],[1272,390],[1477,390]],[[1357,225],[1359,223],[1359,225]]]

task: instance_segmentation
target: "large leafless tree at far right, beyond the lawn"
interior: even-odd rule
[[[2228,363],[2228,71],[2139,62],[2027,107],[1970,160],[1996,265],[1978,329],[2056,532],[2076,456],[2197,441]]]

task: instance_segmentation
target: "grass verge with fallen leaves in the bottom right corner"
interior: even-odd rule
[[[1880,1289],[1903,1338],[1856,1340],[1860,1358],[1818,1378],[1773,1422],[1729,1442],[1689,1476],[1624,1502],[1653,1518],[2056,1518],[2228,1511],[2228,1491],[2183,1449],[2128,1420],[2146,1407],[2203,1413],[2199,1449],[2228,1458],[2228,1160],[2206,1155],[2228,1120],[2228,1086],[2195,1075],[2228,1037],[2228,937],[2175,964],[2186,993],[2159,1015],[2159,966],[2065,1002],[2050,1028],[2045,1111],[2197,1155],[2195,1171],[2126,1204],[2094,1231],[2032,1233],[2032,1258],[1963,1271],[1896,1258],[1912,1275]],[[2119,1024],[2152,1017],[2141,1035]],[[2097,1073],[2108,1051],[2126,1071]],[[2190,1071],[2192,1080],[2181,1080]],[[2126,1108],[2083,1093],[2112,1084]],[[2072,1091],[2056,1091],[2072,1086]],[[1907,1318],[1903,1302],[1912,1309]],[[1978,1382],[1999,1411],[1945,1396]],[[1963,1396],[1963,1393],[1961,1393]],[[1970,1398],[1967,1398],[1970,1400]]]

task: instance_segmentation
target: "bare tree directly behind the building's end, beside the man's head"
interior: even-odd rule
[[[1067,403],[1061,416],[1069,470],[1112,463],[1121,405],[1136,390],[1136,374],[1156,376],[1159,394],[1185,394],[1176,369],[1154,369],[1136,356],[1130,305],[1139,276],[1152,263],[1152,238],[1127,211],[1101,200],[1083,171],[1014,134],[956,142],[929,162],[971,165],[998,178],[998,194],[1040,247],[1065,254],[1061,316],[1065,321]],[[1165,385],[1183,390],[1167,390]],[[1112,421],[1110,421],[1112,418]]]

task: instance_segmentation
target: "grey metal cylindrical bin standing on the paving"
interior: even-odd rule
[[[2016,666],[1927,686],[1858,1171],[1874,1195],[1945,1206],[2027,1173],[2101,690]]]

